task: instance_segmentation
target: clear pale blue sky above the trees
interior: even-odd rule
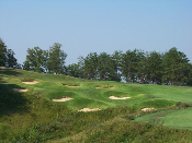
[[[192,61],[192,0],[0,0],[0,38],[19,63],[27,48],[54,43],[66,64],[90,52],[172,47]]]

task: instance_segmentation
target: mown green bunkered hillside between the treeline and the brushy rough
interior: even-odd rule
[[[7,73],[4,75],[3,73]],[[192,103],[192,87],[177,87],[149,84],[126,84],[110,81],[87,81],[67,75],[26,72],[23,70],[2,69],[0,72],[7,84],[26,88],[26,95],[36,95],[48,102],[64,97],[72,98],[59,102],[69,109],[132,107],[138,110],[145,107],[161,109],[174,106],[178,102]],[[26,82],[31,79],[35,81]],[[26,84],[27,83],[27,84]],[[15,88],[12,87],[12,88]],[[112,99],[111,97],[115,98]]]

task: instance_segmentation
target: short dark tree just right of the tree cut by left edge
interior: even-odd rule
[[[12,49],[8,49],[7,51],[5,65],[9,68],[16,68],[18,65],[18,60],[14,58],[14,51]]]

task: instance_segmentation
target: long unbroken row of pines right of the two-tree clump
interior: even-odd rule
[[[80,57],[67,67],[67,74],[88,80],[111,80],[127,83],[192,85],[192,64],[187,56],[171,48],[165,53],[142,50],[102,52]]]

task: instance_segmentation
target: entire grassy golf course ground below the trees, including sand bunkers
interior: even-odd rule
[[[0,68],[0,142],[191,142],[192,87]]]

